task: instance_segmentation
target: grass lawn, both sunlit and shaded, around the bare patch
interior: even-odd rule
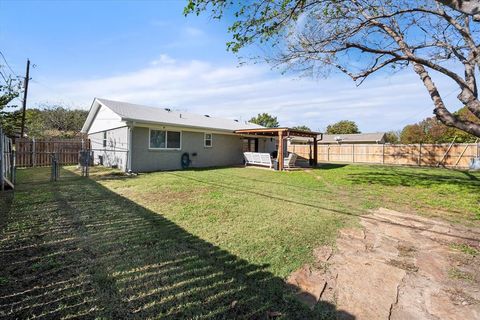
[[[48,175],[18,170],[0,202],[0,318],[328,318],[331,306],[307,309],[283,279],[357,215],[480,222],[480,174],[444,169]]]

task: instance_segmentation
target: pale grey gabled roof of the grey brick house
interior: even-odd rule
[[[239,129],[263,128],[248,121],[224,119],[198,115],[189,112],[173,111],[168,108],[148,107],[133,103],[95,98],[82,132],[88,132],[95,120],[95,115],[101,106],[112,110],[122,121],[137,121],[183,127],[206,128],[215,130],[235,131]]]

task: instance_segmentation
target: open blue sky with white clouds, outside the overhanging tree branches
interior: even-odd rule
[[[281,125],[314,130],[350,119],[364,132],[401,129],[432,114],[410,70],[357,88],[343,75],[306,79],[263,64],[239,67],[225,47],[228,21],[184,17],[184,4],[3,0],[0,51],[19,75],[27,58],[35,64],[29,107],[86,109],[103,97],[229,118],[269,112]],[[438,82],[454,96],[454,87]]]

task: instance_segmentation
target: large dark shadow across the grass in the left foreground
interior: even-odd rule
[[[89,179],[24,180],[0,240],[2,319],[335,318],[332,305],[306,308],[267,266]]]

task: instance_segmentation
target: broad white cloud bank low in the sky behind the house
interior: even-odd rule
[[[294,79],[267,66],[217,66],[167,55],[121,76],[49,82],[48,88],[33,83],[30,101],[68,101],[88,108],[93,97],[229,118],[268,112],[282,125],[305,124],[315,130],[342,119],[355,120],[363,131],[399,129],[433,109],[413,73],[376,77],[356,87],[342,76]]]

